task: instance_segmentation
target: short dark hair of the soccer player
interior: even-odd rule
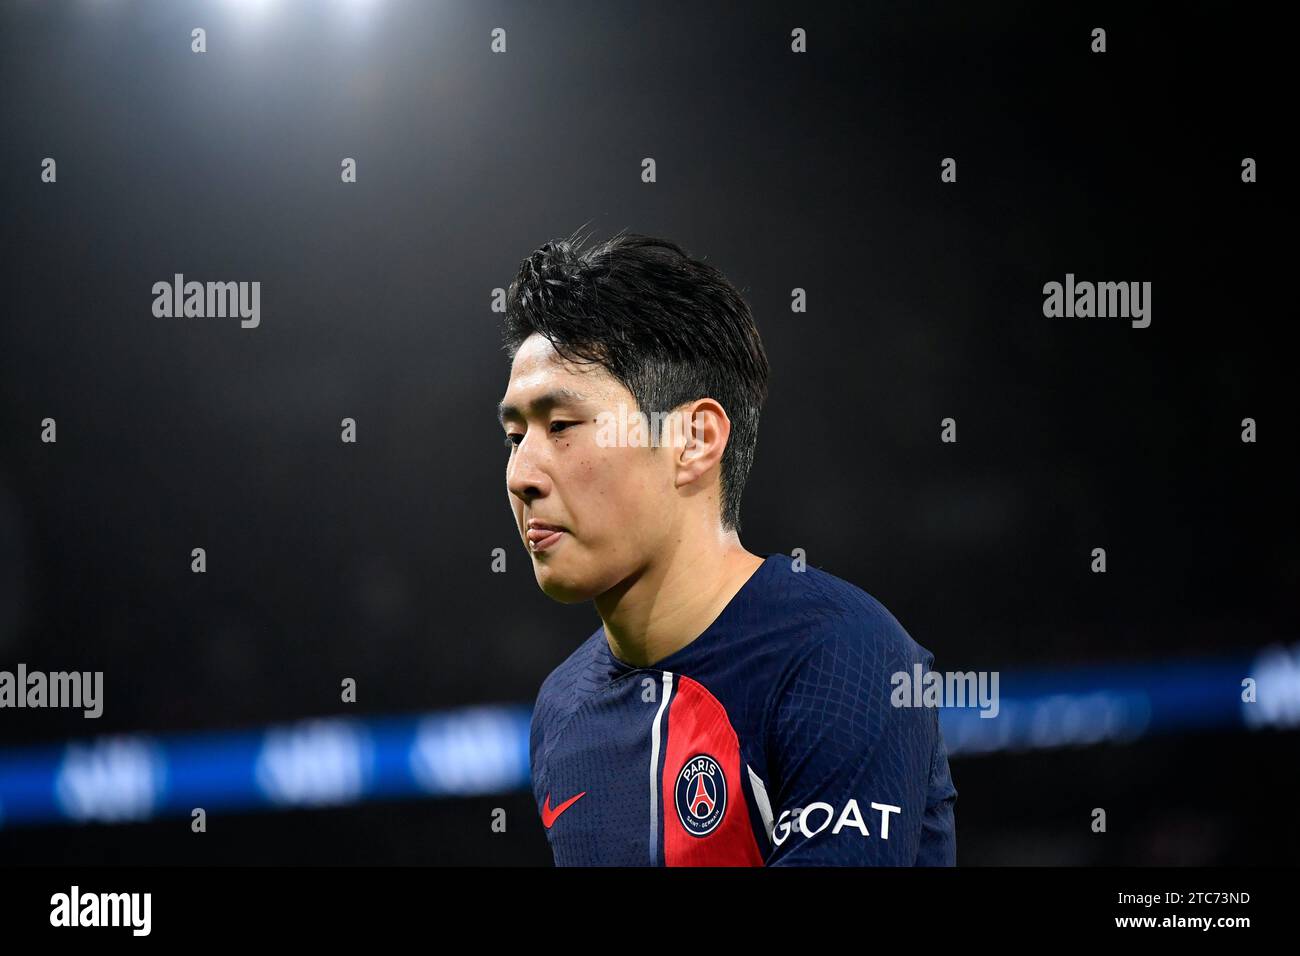
[[[602,365],[647,415],[715,399],[732,425],[722,520],[738,533],[767,398],[767,354],[749,306],[722,272],[668,239],[620,233],[580,251],[582,242],[552,239],[523,261],[506,291],[506,351],[514,360],[538,333],[562,358]]]

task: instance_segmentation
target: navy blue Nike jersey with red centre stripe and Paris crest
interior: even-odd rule
[[[861,588],[767,554],[708,628],[634,667],[599,627],[542,683],[533,795],[559,866],[954,865],[933,656]]]

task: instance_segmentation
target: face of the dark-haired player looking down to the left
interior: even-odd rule
[[[589,601],[636,574],[673,533],[673,450],[597,442],[598,416],[618,416],[620,403],[624,416],[637,408],[604,368],[564,362],[542,336],[515,354],[502,399],[514,445],[506,488],[537,584],[564,604]],[[563,531],[530,533],[530,519]]]

